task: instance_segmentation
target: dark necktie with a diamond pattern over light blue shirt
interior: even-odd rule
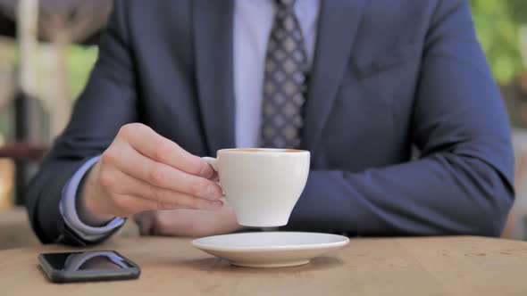
[[[265,57],[262,147],[297,148],[304,127],[308,67],[295,1],[276,0],[277,12]]]

